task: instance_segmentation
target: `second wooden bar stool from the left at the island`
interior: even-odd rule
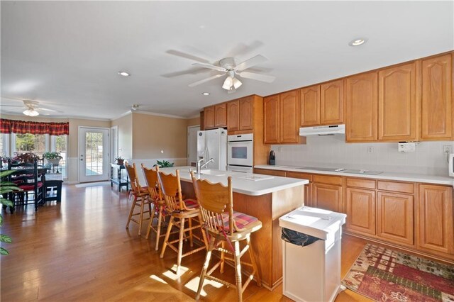
[[[147,235],[145,238],[148,239],[150,236],[150,231],[153,230],[156,233],[156,245],[155,250],[159,248],[160,237],[164,237],[165,233],[161,234],[161,224],[162,220],[165,218],[165,200],[162,198],[159,185],[157,184],[157,167],[154,170],[153,168],[146,168],[142,164],[142,171],[145,177],[145,181],[148,187],[148,194],[150,194],[150,199],[153,202],[153,213],[151,214],[150,222],[148,223]],[[157,218],[157,225],[153,225],[153,220]]]

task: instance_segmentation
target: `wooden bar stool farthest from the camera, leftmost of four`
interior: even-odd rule
[[[129,181],[131,181],[131,191],[130,194],[133,196],[133,203],[131,204],[131,211],[129,211],[128,222],[126,223],[126,228],[129,228],[129,223],[133,221],[139,225],[138,235],[140,236],[140,230],[142,229],[142,223],[145,220],[151,218],[151,199],[148,194],[148,187],[142,187],[139,184],[139,179],[137,177],[137,169],[135,169],[135,163],[129,165],[128,162],[125,162],[126,172],[128,172]],[[129,198],[128,198],[129,199]],[[148,204],[148,217],[143,218],[144,208]],[[139,211],[134,213],[135,207],[139,208]],[[135,216],[139,216],[138,220],[135,219]]]

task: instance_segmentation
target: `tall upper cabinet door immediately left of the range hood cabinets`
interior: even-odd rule
[[[280,142],[299,142],[299,97],[298,90],[280,94],[279,104]]]

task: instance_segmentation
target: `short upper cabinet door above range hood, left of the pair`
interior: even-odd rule
[[[320,125],[320,85],[299,89],[299,125]]]

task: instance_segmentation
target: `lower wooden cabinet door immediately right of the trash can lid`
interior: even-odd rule
[[[355,233],[375,235],[375,191],[347,188],[345,228]]]

